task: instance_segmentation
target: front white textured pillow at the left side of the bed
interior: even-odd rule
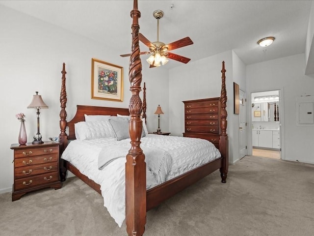
[[[114,138],[114,131],[108,120],[80,121],[74,124],[75,136],[78,140]]]

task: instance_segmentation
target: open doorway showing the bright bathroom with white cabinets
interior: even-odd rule
[[[281,159],[280,90],[251,94],[252,155]]]

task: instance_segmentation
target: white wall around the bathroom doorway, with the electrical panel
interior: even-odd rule
[[[283,159],[314,163],[314,127],[296,125],[296,98],[314,95],[314,80],[305,75],[305,56],[299,54],[248,65],[247,93],[280,89]],[[250,109],[248,110],[250,114]],[[251,125],[251,124],[250,124]]]

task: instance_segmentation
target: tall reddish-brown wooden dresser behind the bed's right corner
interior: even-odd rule
[[[206,139],[219,148],[220,98],[183,101],[183,137]]]

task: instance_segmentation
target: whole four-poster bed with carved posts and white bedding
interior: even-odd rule
[[[131,83],[131,99],[129,108],[112,108],[112,107],[96,107],[96,106],[81,106],[77,105],[77,113],[72,120],[67,121],[66,113],[66,71],[65,64],[63,63],[62,70],[62,86],[60,93],[60,130],[59,139],[61,142],[61,153],[62,159],[61,163],[61,180],[65,180],[66,171],[71,171],[74,175],[82,179],[85,183],[95,189],[97,192],[103,194],[104,201],[107,202],[108,198],[115,198],[115,196],[125,193],[123,197],[124,207],[123,213],[127,224],[127,232],[129,236],[141,236],[145,231],[146,223],[146,211],[156,207],[161,202],[175,195],[176,193],[182,191],[184,188],[195,183],[199,179],[209,175],[210,173],[220,170],[221,181],[226,182],[228,174],[228,136],[227,130],[227,111],[226,111],[226,85],[225,85],[225,67],[224,62],[222,63],[222,86],[221,86],[221,96],[219,103],[219,151],[207,140],[186,138],[186,137],[174,137],[174,136],[163,136],[148,134],[146,131],[145,121],[142,118],[146,118],[146,88],[144,83],[143,88],[143,103],[139,97],[139,92],[141,91],[141,81],[142,81],[142,65],[140,60],[139,51],[139,25],[138,18],[140,17],[140,12],[137,9],[137,0],[134,0],[133,10],[131,11],[131,17],[133,18],[132,23],[132,47],[131,47],[131,58],[130,58],[130,83]],[[141,116],[142,114],[142,116]],[[105,118],[105,120],[89,122],[86,119],[93,118],[92,116],[99,116],[95,118]],[[106,117],[107,116],[107,117]],[[119,116],[120,118],[117,118]],[[126,116],[128,118],[124,118]],[[125,123],[127,119],[129,127],[129,136],[124,139],[117,140],[117,130],[114,125],[116,120],[119,122],[123,120]],[[108,122],[109,121],[109,122]],[[79,125],[83,125],[85,128],[91,123],[97,123],[101,125],[102,130],[107,134],[109,128],[112,126],[114,131],[114,137],[100,137],[96,144],[92,144],[91,137],[86,138],[86,129],[82,132],[82,129],[78,131]],[[108,125],[108,123],[111,124]],[[87,126],[86,126],[87,125]],[[104,128],[105,125],[105,128]],[[66,134],[66,127],[69,128],[69,134]],[[98,126],[97,126],[98,127]],[[98,128],[87,127],[89,130],[93,130],[94,133],[89,135],[95,135],[95,132],[100,132]],[[96,131],[95,131],[96,130]],[[147,129],[146,129],[147,130]],[[79,133],[80,132],[80,133]],[[144,135],[143,135],[144,133]],[[84,136],[85,135],[85,136]],[[111,134],[112,135],[112,134]],[[79,136],[79,138],[78,138]],[[82,138],[84,136],[84,138]],[[88,135],[87,135],[88,136]],[[143,137],[141,139],[141,137]],[[118,138],[119,139],[119,138]],[[70,142],[71,141],[71,142]],[[109,143],[106,143],[109,142]],[[176,143],[174,143],[176,142]],[[193,143],[194,149],[185,150],[184,147],[188,146],[188,143]],[[197,142],[197,143],[196,143]],[[106,149],[102,145],[106,146]],[[131,145],[130,145],[131,144]],[[167,148],[167,144],[170,147],[178,148]],[[94,145],[89,147],[89,145]],[[181,146],[180,146],[181,145]],[[111,148],[109,148],[111,146]],[[122,146],[122,147],[121,147]],[[184,147],[183,147],[184,146]],[[80,149],[79,148],[86,148]],[[127,147],[127,149],[125,149]],[[157,147],[158,150],[153,147]],[[89,148],[89,149],[88,149]],[[90,160],[89,156],[98,155],[106,158],[108,153],[113,153],[113,151],[121,150],[125,153],[125,158],[114,158],[106,162],[105,167],[100,167],[100,159]],[[164,150],[162,150],[164,149]],[[161,150],[161,152],[160,152]],[[185,153],[185,158],[182,158],[180,151]],[[202,156],[199,154],[200,150],[203,153]],[[111,151],[111,152],[110,152]],[[75,153],[76,152],[76,153]],[[85,156],[82,154],[85,152]],[[71,153],[75,153],[74,157]],[[105,154],[103,154],[105,153]],[[144,155],[145,154],[145,155]],[[162,162],[157,167],[157,172],[155,172],[155,161],[160,161],[158,158],[153,157],[157,154],[157,157],[165,156],[167,158],[162,158],[165,162]],[[124,155],[124,156],[125,156]],[[79,163],[76,160],[76,156],[83,158],[83,163]],[[170,158],[168,158],[170,156]],[[190,158],[193,156],[193,159]],[[209,156],[211,156],[209,158]],[[119,156],[121,157],[121,156]],[[151,158],[153,157],[153,158]],[[155,158],[155,159],[154,159]],[[180,163],[175,160],[178,158]],[[182,161],[182,159],[184,159]],[[200,161],[198,160],[200,159]],[[185,162],[184,162],[185,161]],[[171,162],[172,167],[165,167],[164,163]],[[194,163],[195,162],[195,163]],[[196,163],[197,162],[197,163]],[[87,172],[88,168],[84,165],[89,165],[88,163],[94,163],[93,165],[98,167],[96,170]],[[119,163],[119,164],[117,164]],[[192,164],[191,164],[192,163]],[[103,163],[102,163],[103,164]],[[194,165],[195,164],[195,165]],[[81,165],[81,167],[79,167]],[[119,165],[119,166],[118,166]],[[117,170],[113,169],[117,166]],[[162,171],[159,173],[160,166],[163,167]],[[177,167],[176,167],[177,166]],[[182,168],[184,166],[184,168]],[[187,167],[188,168],[185,168]],[[103,168],[103,169],[101,169]],[[158,169],[159,168],[159,169]],[[165,174],[165,170],[167,173]],[[180,171],[178,171],[180,170]],[[120,177],[114,177],[114,173],[119,173]],[[90,174],[91,173],[91,174]],[[156,174],[157,173],[157,174]],[[169,173],[169,174],[168,174]],[[162,175],[165,174],[165,175]],[[159,179],[160,177],[160,179]],[[117,182],[120,179],[122,182]],[[159,181],[160,180],[160,181]],[[106,182],[106,183],[105,183]],[[108,190],[103,184],[114,185],[115,188],[119,188],[120,192],[117,191],[116,195],[111,196],[111,192],[114,190]],[[110,195],[110,196],[109,196]],[[109,203],[110,204],[110,203]],[[114,202],[113,205],[116,205]],[[108,210],[110,206],[106,206]],[[109,211],[110,212],[110,211]],[[110,212],[111,214],[112,212]],[[122,218],[122,221],[124,218]],[[117,222],[117,220],[116,220]],[[118,223],[118,222],[117,222]],[[121,219],[120,223],[121,225]]]

